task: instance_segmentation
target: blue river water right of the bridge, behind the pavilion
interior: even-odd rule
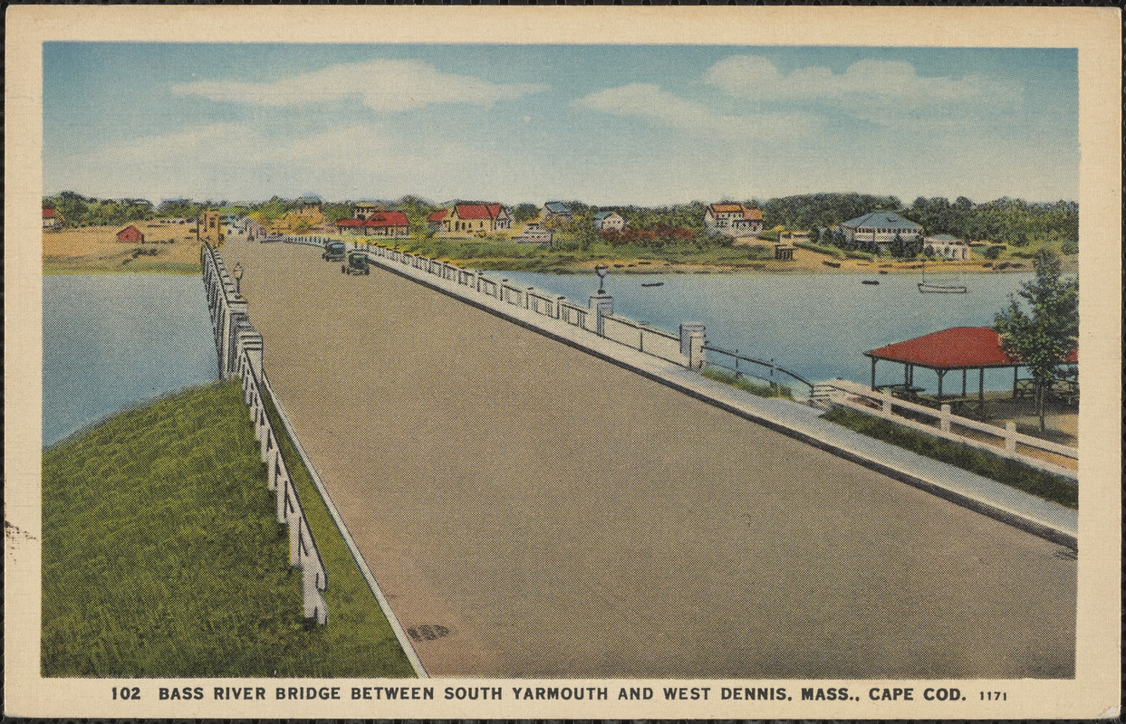
[[[598,289],[593,274],[566,275],[491,272],[528,286],[566,295],[586,305]],[[677,333],[682,322],[701,322],[709,344],[739,350],[778,364],[811,381],[872,379],[864,352],[938,329],[989,326],[1008,307],[1009,295],[1033,274],[927,274],[927,281],[965,284],[965,295],[922,295],[917,274],[622,274],[606,278],[614,310]],[[878,286],[861,284],[878,279]],[[661,287],[642,287],[646,282]],[[722,358],[721,358],[722,359]],[[877,382],[902,381],[903,366],[882,362]],[[957,383],[960,384],[960,375]],[[915,383],[933,388],[935,375],[915,373]],[[976,387],[976,372],[971,372]],[[951,389],[955,380],[946,380]],[[986,389],[1012,384],[1011,370],[985,373]]]

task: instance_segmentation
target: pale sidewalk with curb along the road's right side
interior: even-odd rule
[[[583,350],[776,432],[840,455],[957,505],[1078,550],[1079,513],[1000,482],[918,455],[820,419],[822,411],[779,398],[762,398],[698,372],[632,350],[587,329],[536,314],[408,264],[369,255],[372,262],[474,307]]]

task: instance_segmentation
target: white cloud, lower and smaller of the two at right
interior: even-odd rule
[[[649,83],[631,83],[590,93],[571,102],[582,110],[637,117],[656,126],[681,128],[725,141],[794,138],[816,130],[807,114],[751,114],[725,116]]]

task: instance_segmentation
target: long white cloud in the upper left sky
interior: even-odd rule
[[[498,84],[444,73],[420,61],[369,61],[330,65],[269,83],[193,81],[172,85],[176,96],[251,106],[310,106],[350,96],[374,110],[399,112],[430,103],[492,106],[547,90],[536,83]]]

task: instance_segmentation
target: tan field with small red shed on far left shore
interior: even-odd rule
[[[199,272],[195,224],[134,221],[144,234],[142,244],[117,241],[126,226],[44,229],[43,273]]]

